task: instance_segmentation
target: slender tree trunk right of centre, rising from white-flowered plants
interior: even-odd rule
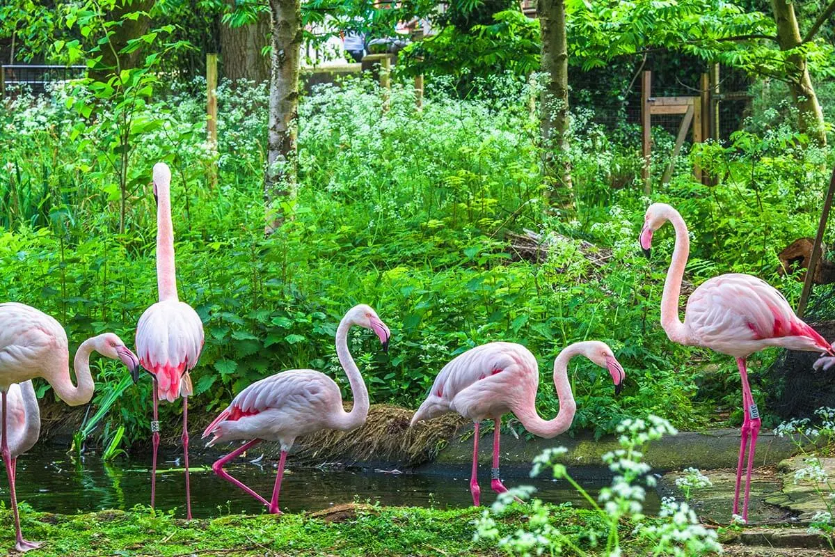
[[[572,205],[568,157],[569,51],[564,0],[539,0],[537,16],[542,37],[545,84],[539,108],[543,176],[552,205]]]

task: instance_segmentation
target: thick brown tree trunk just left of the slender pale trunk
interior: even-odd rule
[[[234,5],[234,0],[226,0]],[[232,28],[220,25],[220,55],[223,77],[237,81],[249,79],[256,84],[270,78],[270,58],[261,51],[270,43],[270,14],[258,14],[255,23]]]

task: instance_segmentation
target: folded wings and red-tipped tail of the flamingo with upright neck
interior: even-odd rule
[[[159,397],[174,402],[191,394],[190,380],[180,379],[197,365],[203,350],[203,322],[183,301],[160,301],[150,306],[136,327],[136,350],[142,367],[153,373]]]

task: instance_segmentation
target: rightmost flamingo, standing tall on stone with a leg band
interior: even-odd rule
[[[685,346],[706,347],[736,358],[742,381],[742,419],[739,461],[736,465],[736,489],[733,514],[739,512],[739,492],[742,465],[750,439],[746,471],[745,499],[742,519],[748,519],[748,499],[751,492],[751,469],[760,432],[760,413],[751,387],[748,386],[746,358],[767,347],[784,347],[807,352],[832,352],[832,348],[812,327],[802,322],[788,305],[786,298],[767,282],[751,275],[731,273],[715,276],[701,284],[687,300],[684,322],[679,321],[678,302],[681,279],[690,238],[679,212],[670,205],[655,203],[646,210],[644,228],[640,231],[640,246],[650,255],[652,234],[669,220],[676,230],[670,271],[661,297],[661,327],[672,342]]]

